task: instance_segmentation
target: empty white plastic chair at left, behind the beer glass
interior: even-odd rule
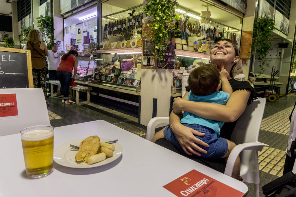
[[[29,126],[50,125],[41,88],[0,89],[0,97],[3,94],[16,94],[18,115],[0,117],[0,136],[20,133]]]

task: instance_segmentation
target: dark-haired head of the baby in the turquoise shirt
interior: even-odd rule
[[[189,89],[194,95],[210,95],[220,84],[220,72],[213,64],[205,64],[193,69],[188,77]]]

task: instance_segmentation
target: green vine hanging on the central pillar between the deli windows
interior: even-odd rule
[[[156,55],[160,65],[163,61],[165,51],[168,43],[172,40],[172,32],[180,31],[174,24],[179,20],[179,16],[175,14],[175,7],[178,5],[175,0],[147,0],[147,4],[144,6],[144,13],[146,17],[152,17],[148,22],[151,25],[145,24],[150,29],[150,34],[143,33],[147,39],[152,39],[152,43],[155,45],[157,53]],[[165,66],[167,63],[165,64]],[[165,67],[163,66],[163,67]]]

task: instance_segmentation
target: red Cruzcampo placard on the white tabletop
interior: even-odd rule
[[[163,187],[176,196],[181,197],[244,196],[244,193],[196,170],[191,170]]]

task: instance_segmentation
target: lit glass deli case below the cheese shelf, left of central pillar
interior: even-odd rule
[[[89,85],[140,92],[141,48],[99,50],[97,56]]]

